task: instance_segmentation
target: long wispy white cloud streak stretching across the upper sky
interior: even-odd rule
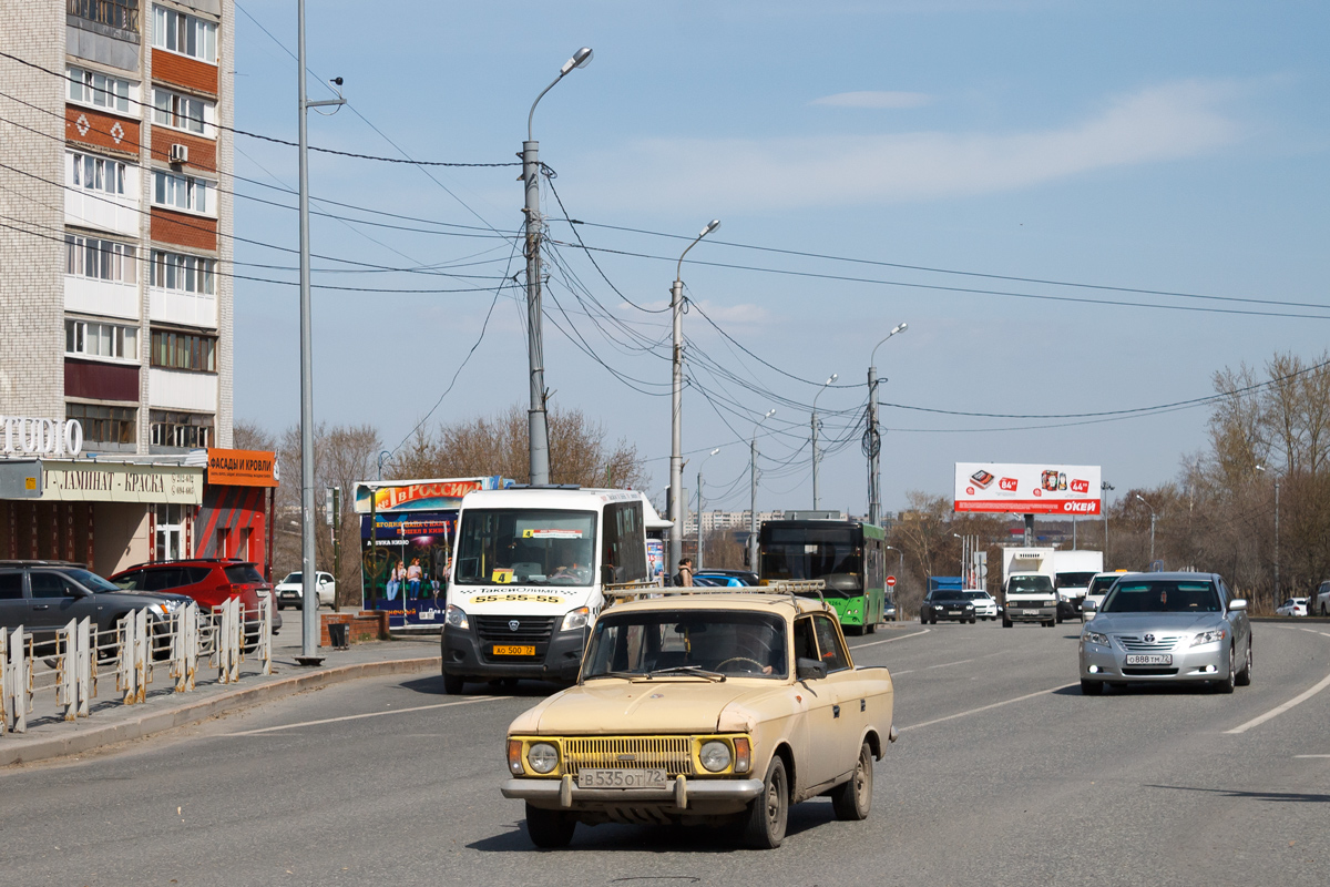
[[[1230,82],[1165,84],[1031,132],[650,138],[591,156],[596,188],[585,197],[598,209],[708,206],[722,214],[1020,190],[1218,150],[1245,134],[1222,110],[1238,92]]]

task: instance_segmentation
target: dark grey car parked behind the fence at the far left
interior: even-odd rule
[[[184,594],[125,592],[84,564],[0,561],[0,628],[12,630],[21,625],[39,650],[49,646],[69,620],[88,617],[94,632],[109,632],[126,613],[144,608],[149,632],[156,634],[166,628],[176,608],[188,601]]]

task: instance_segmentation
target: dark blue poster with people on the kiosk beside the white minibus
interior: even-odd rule
[[[455,511],[360,516],[364,609],[384,610],[388,625],[443,625]]]

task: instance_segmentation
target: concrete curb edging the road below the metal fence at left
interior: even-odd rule
[[[298,668],[298,666],[295,666]],[[382,662],[360,662],[322,669],[297,677],[282,678],[271,684],[245,688],[184,705],[166,711],[153,711],[122,723],[109,723],[92,727],[73,735],[43,737],[40,739],[15,741],[12,735],[0,738],[0,767],[11,767],[35,761],[48,761],[70,754],[80,754],[130,739],[141,739],[154,733],[198,723],[233,709],[271,702],[305,690],[354,681],[356,678],[379,677],[384,674],[411,674],[428,669],[442,669],[443,657],[428,656],[415,660],[388,660]],[[84,721],[86,723],[86,721]]]

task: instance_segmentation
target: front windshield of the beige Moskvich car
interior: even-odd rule
[[[785,620],[733,610],[644,610],[602,614],[587,649],[583,680],[660,676],[689,669],[743,677],[789,674]]]

